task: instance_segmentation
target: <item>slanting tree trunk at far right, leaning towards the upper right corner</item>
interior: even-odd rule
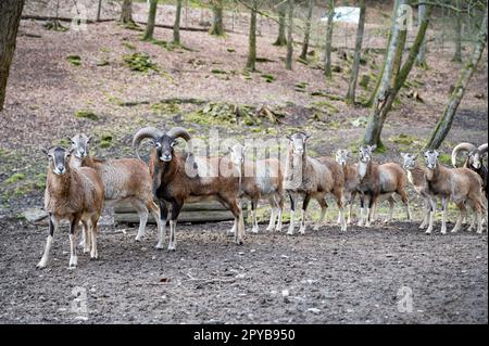
[[[455,117],[456,108],[459,107],[462,98],[464,97],[465,90],[482,56],[484,49],[486,48],[487,41],[487,5],[484,14],[484,20],[480,26],[479,34],[477,36],[477,41],[472,52],[471,59],[465,67],[462,69],[459,79],[455,84],[452,94],[444,107],[443,114],[438,120],[435,130],[431,133],[426,149],[438,149],[447,137],[450,128],[452,127],[453,118]]]

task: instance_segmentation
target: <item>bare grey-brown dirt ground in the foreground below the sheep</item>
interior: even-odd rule
[[[248,233],[238,246],[229,228],[179,226],[168,253],[154,248],[153,228],[136,243],[136,229],[104,227],[101,258],[82,255],[76,270],[67,269],[65,229],[48,269],[36,270],[46,227],[3,223],[0,322],[487,323],[487,233],[331,226]],[[76,290],[88,312],[73,308]],[[402,309],[408,296],[412,312]]]

